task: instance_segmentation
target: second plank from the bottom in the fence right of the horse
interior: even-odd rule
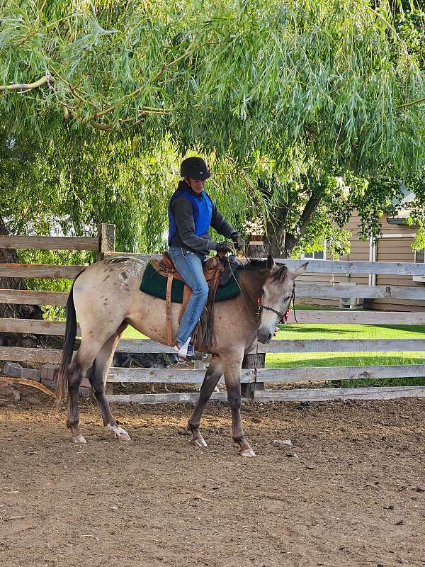
[[[355,380],[357,378],[425,378],[425,364],[388,366],[310,366],[305,368],[265,368],[256,371],[258,382],[301,382]]]

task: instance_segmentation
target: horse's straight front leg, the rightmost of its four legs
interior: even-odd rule
[[[227,400],[232,410],[232,439],[239,445],[239,454],[242,456],[255,456],[251,445],[246,441],[241,420],[241,370],[243,350],[241,352],[229,352],[222,355],[222,366],[225,373],[227,388]]]

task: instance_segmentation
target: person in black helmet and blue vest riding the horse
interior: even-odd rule
[[[186,305],[175,349],[179,357],[186,360],[202,359],[191,343],[191,334],[196,327],[208,298],[208,284],[203,275],[202,262],[210,250],[232,252],[230,242],[210,240],[208,229],[214,228],[220,235],[232,239],[234,246],[244,246],[239,232],[232,228],[203,191],[205,179],[210,177],[207,164],[200,157],[184,159],[180,167],[179,186],[171,196],[169,215],[169,255],[181,278],[192,289]]]

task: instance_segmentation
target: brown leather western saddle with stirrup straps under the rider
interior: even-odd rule
[[[212,328],[213,328],[213,318],[214,318],[214,301],[215,301],[215,293],[217,291],[217,287],[219,286],[220,279],[222,276],[223,271],[225,271],[225,263],[223,258],[225,257],[225,252],[219,252],[212,258],[208,258],[203,262],[203,273],[205,276],[205,280],[208,283],[208,299],[205,305],[205,309],[203,312],[203,316],[201,317],[202,325],[198,325],[198,327],[203,327],[203,330],[198,329],[196,332],[196,341],[198,344],[210,344],[212,339]],[[179,272],[174,267],[171,258],[169,257],[168,252],[162,252],[162,259],[155,260],[152,259],[150,261],[152,267],[162,276],[165,276],[166,281],[166,341],[170,347],[173,346],[173,335],[171,331],[171,288],[173,286],[173,279],[179,279],[183,281],[183,278],[179,274]],[[184,283],[184,291],[183,291],[183,302],[181,303],[180,313],[179,313],[179,322],[181,322],[181,318],[183,317],[184,310],[186,309],[186,305],[188,304],[189,298],[191,297],[192,289]],[[206,313],[205,313],[206,311]],[[206,321],[205,321],[206,315]]]

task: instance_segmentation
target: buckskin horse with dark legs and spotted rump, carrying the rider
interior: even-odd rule
[[[295,296],[295,279],[308,262],[290,271],[285,264],[267,259],[240,262],[240,293],[233,299],[215,304],[212,341],[207,349],[212,357],[200,388],[198,403],[188,420],[192,442],[207,447],[200,433],[200,417],[221,376],[225,376],[227,400],[232,412],[232,439],[242,456],[255,456],[246,441],[241,422],[241,369],[244,354],[256,342],[271,341],[277,322],[282,321],[291,298]],[[128,325],[162,344],[167,344],[166,302],[140,291],[147,261],[137,257],[117,256],[88,266],[77,276],[67,301],[67,322],[58,376],[58,409],[68,383],[68,416],[66,425],[74,443],[86,443],[79,430],[79,385],[88,376],[101,412],[103,425],[119,441],[130,441],[130,435],[114,420],[105,395],[105,383],[115,348]],[[172,335],[176,338],[179,303],[171,304]],[[72,358],[77,334],[81,344]]]

